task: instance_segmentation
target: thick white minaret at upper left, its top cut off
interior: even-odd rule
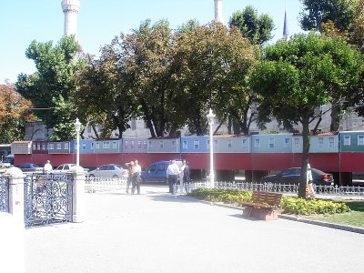
[[[77,15],[80,0],[62,0],[62,10],[65,14],[65,35],[77,35]]]

